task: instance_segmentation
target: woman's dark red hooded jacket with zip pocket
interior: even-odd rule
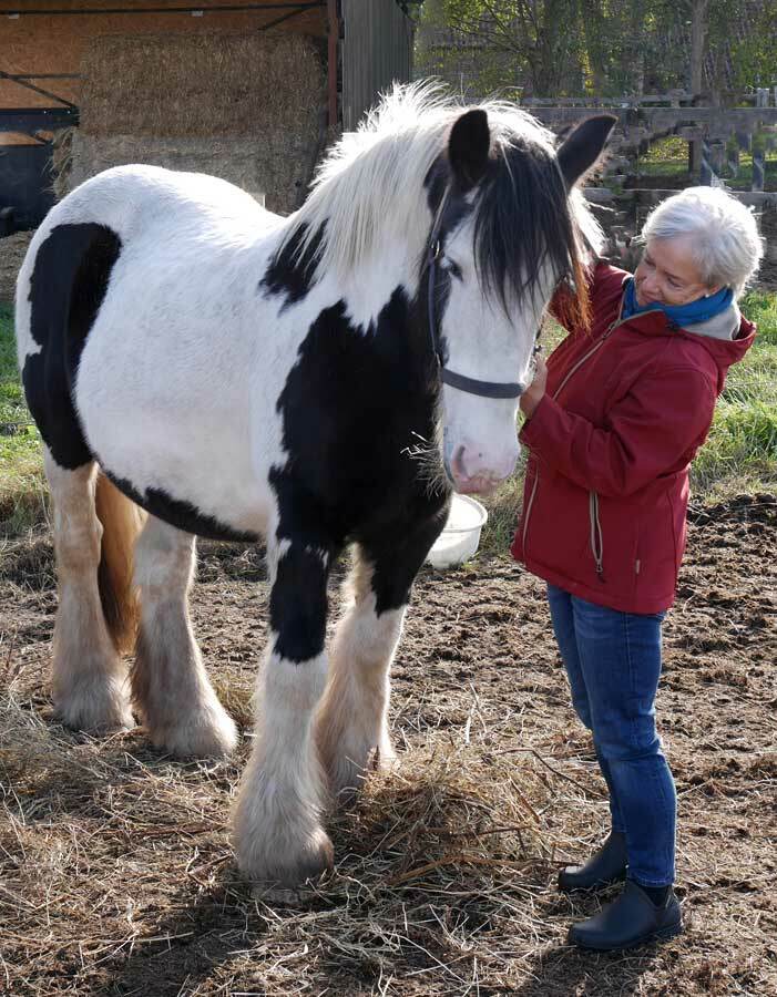
[[[662,311],[620,321],[630,275],[600,264],[591,332],[548,359],[548,390],[520,433],[529,448],[513,556],[591,603],[658,613],[674,602],[685,549],[688,465],[726,371],[755,338],[671,326]]]

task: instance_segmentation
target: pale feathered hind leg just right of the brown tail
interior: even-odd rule
[[[132,698],[157,748],[180,757],[223,756],[235,747],[237,732],[192,631],[194,562],[192,534],[149,516],[135,546],[141,626]]]

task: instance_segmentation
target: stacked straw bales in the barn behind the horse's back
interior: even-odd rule
[[[287,213],[326,138],[315,42],[290,32],[94,39],[82,62],[69,185],[150,163],[221,176]]]

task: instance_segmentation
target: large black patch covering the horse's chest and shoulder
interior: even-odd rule
[[[401,287],[368,329],[351,325],[345,301],[325,309],[301,342],[277,403],[288,453],[269,476],[280,514],[278,538],[330,549],[333,556],[348,541],[362,544],[376,564],[381,613],[407,603],[450,498],[434,444],[439,376],[423,312]],[[429,456],[422,466],[417,452],[425,441]],[[398,536],[408,538],[402,556],[397,554],[401,563],[382,557],[378,565],[382,536],[392,537],[395,547]],[[391,577],[379,577],[380,571]]]

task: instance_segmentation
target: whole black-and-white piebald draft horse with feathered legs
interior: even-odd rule
[[[188,615],[195,537],[264,538],[269,637],[232,814],[251,880],[331,866],[326,806],[392,763],[413,579],[452,490],[513,471],[543,310],[561,280],[580,292],[596,238],[574,184],[613,121],[555,147],[510,104],[397,88],[288,217],[222,179],[124,166],[31,243],[16,321],[53,506],[57,716],[116,731],[134,711],[170,754],[228,754]]]

